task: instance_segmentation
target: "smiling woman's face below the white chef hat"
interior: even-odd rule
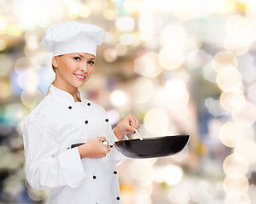
[[[55,68],[55,82],[65,88],[79,88],[93,72],[95,56],[85,53],[63,54],[52,59]]]

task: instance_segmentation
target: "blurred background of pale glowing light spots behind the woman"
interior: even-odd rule
[[[55,75],[40,47],[67,20],[106,31],[84,98],[143,137],[190,135],[175,156],[118,165],[124,204],[256,203],[256,2],[0,0],[0,203],[47,203],[26,183],[22,128]],[[132,136],[131,136],[132,138]]]

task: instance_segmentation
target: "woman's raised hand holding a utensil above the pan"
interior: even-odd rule
[[[135,133],[135,129],[139,129],[140,123],[137,121],[136,116],[131,113],[125,116],[125,118],[120,121],[116,127],[113,128],[113,133],[115,136],[121,140],[127,133]]]

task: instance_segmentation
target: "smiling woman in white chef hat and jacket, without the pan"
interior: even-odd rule
[[[112,130],[102,107],[78,91],[93,72],[103,39],[97,26],[63,22],[50,26],[41,42],[53,52],[55,81],[27,116],[23,138],[27,181],[36,190],[52,189],[50,204],[122,203],[116,171],[121,155],[102,142],[121,140],[140,125],[129,114]],[[78,143],[85,144],[70,148]]]

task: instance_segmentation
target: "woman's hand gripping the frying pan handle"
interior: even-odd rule
[[[96,137],[94,139],[90,139],[90,141],[80,145],[79,154],[81,159],[84,157],[87,158],[102,158],[107,155],[110,151],[110,148],[103,144],[102,142],[106,141],[104,137]]]

